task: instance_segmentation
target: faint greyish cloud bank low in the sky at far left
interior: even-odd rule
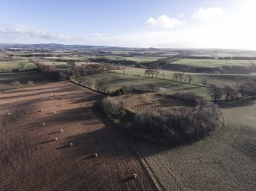
[[[39,38],[48,40],[72,40],[61,33],[49,33],[45,30],[37,30],[24,25],[0,24],[0,37],[8,39]]]

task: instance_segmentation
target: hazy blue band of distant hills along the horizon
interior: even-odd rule
[[[16,44],[16,43],[0,43],[0,49],[38,49],[38,50],[94,50],[94,51],[129,51],[130,56],[161,56],[168,57],[172,55],[180,55],[183,57],[199,56],[199,57],[256,57],[255,50],[248,49],[158,49],[150,48],[127,48],[117,46],[90,46],[90,45],[65,45],[57,43],[39,43],[39,44]],[[125,53],[125,52],[124,52]]]

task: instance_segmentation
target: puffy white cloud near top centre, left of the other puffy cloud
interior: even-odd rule
[[[147,19],[147,26],[150,27],[162,27],[162,28],[170,28],[183,24],[179,19],[177,18],[169,18],[167,15],[163,14],[158,18],[149,18]]]

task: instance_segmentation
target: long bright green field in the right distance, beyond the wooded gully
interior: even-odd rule
[[[180,59],[172,64],[188,65],[195,67],[221,67],[223,65],[228,66],[250,66],[251,62],[248,60],[232,60],[232,59]]]

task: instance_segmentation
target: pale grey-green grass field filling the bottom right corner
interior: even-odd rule
[[[167,190],[255,190],[256,101],[223,107],[215,135],[177,148],[138,143]]]

